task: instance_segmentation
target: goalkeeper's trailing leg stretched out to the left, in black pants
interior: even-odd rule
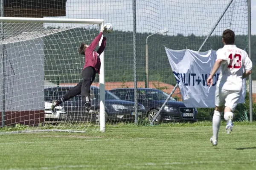
[[[67,91],[64,96],[62,96],[61,98],[59,98],[58,100],[52,100],[52,111],[54,110],[54,108],[56,106],[58,106],[59,104],[81,94],[81,86],[82,86],[82,81],[79,82],[75,87],[71,88],[69,91]]]

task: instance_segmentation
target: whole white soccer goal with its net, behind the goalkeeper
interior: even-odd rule
[[[16,125],[16,133],[20,129],[23,132],[85,132],[98,128],[105,132],[104,52],[100,55],[100,74],[96,77],[99,85],[99,122],[94,120],[93,115],[82,115],[82,111],[73,115],[79,108],[70,101],[58,108],[56,117],[48,113],[49,101],[45,101],[47,97],[58,99],[64,94],[59,88],[72,88],[81,81],[84,56],[79,55],[79,46],[81,42],[90,44],[93,41],[104,20],[0,17],[0,23],[4,30],[1,31],[0,57],[5,68],[0,74],[0,127]],[[53,89],[51,96],[49,91],[45,91],[49,88]]]

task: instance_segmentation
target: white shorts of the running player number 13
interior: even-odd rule
[[[224,90],[216,87],[215,105],[216,106],[225,105],[226,107],[234,111],[236,109],[236,105],[238,104],[240,95],[241,95],[241,91],[230,91],[230,90]]]

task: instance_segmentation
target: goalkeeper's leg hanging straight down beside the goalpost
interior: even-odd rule
[[[84,68],[82,71],[83,83],[81,86],[81,98],[87,113],[97,113],[91,108],[90,104],[90,86],[92,85],[96,76],[96,71],[93,67]]]

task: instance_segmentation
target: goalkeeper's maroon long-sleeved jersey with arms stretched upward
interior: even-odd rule
[[[102,54],[102,52],[105,49],[105,45],[106,45],[106,37],[103,37],[102,39],[102,43],[98,49],[98,51],[94,51],[94,49],[96,48],[97,44],[99,43],[99,40],[102,37],[102,32],[99,33],[99,35],[93,40],[93,42],[86,48],[85,50],[85,64],[84,64],[84,68],[86,67],[93,67],[96,71],[96,73],[99,74],[99,69],[100,69],[100,59],[99,59],[99,55]],[[83,68],[83,70],[84,70]]]

